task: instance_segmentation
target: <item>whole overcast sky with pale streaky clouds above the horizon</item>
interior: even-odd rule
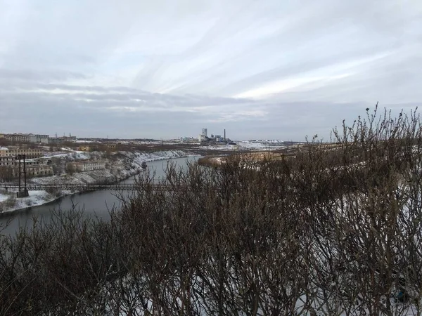
[[[0,0],[0,132],[329,140],[422,100],[420,0]]]

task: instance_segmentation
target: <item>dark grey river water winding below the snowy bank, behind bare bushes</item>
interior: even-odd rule
[[[154,180],[160,180],[165,176],[165,168],[167,162],[177,164],[182,169],[186,168],[188,162],[196,162],[199,157],[185,157],[185,158],[174,158],[168,160],[157,160],[155,162],[147,162],[147,169],[151,172],[155,171]],[[121,183],[134,183],[137,176],[132,176]],[[0,218],[0,226],[8,225],[1,234],[14,234],[20,228],[25,226],[31,227],[33,224],[34,216],[42,218],[43,220],[49,220],[51,218],[51,211],[68,211],[75,206],[76,209],[83,209],[84,214],[87,216],[97,216],[102,220],[108,220],[110,218],[109,210],[115,206],[120,206],[120,201],[116,195],[118,192],[115,191],[94,191],[94,192],[83,192],[75,195],[68,195],[62,197],[49,204],[40,206],[33,206],[30,209],[22,211],[15,211],[10,214],[3,214]],[[130,195],[131,192],[123,192]]]

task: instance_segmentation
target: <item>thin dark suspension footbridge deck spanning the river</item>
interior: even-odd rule
[[[170,185],[154,184],[155,190],[171,190]],[[136,191],[140,186],[134,183],[129,184],[108,184],[108,185],[94,185],[94,184],[27,184],[25,185],[8,185],[0,183],[1,189],[13,190],[27,190],[27,191],[45,191],[45,190],[59,190],[59,191]]]

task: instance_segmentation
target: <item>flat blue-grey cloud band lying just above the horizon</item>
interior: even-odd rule
[[[77,100],[79,94],[75,97],[74,94],[66,96],[46,92],[0,93],[0,129],[57,132],[60,135],[71,132],[79,137],[170,138],[196,136],[201,127],[207,126],[211,133],[222,133],[226,129],[234,139],[303,140],[305,136],[315,133],[328,139],[331,128],[341,124],[343,119],[356,118],[364,114],[365,107],[373,107],[373,104],[289,103],[276,100],[257,103],[254,100],[200,96],[166,95],[160,99],[162,95],[149,93],[148,109],[131,111],[127,107],[139,107],[133,100],[113,100],[114,94],[111,94],[113,98],[99,96],[102,98],[92,98],[87,102]],[[198,106],[201,103],[207,105]],[[109,110],[110,107],[117,109]],[[160,110],[159,107],[164,108]],[[192,107],[198,107],[198,110],[191,112]],[[263,114],[254,112],[257,110]],[[6,119],[8,117],[15,119]],[[245,129],[245,126],[248,128]]]

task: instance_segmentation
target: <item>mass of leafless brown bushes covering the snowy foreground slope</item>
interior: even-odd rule
[[[421,124],[368,114],[295,156],[142,173],[108,223],[0,237],[0,315],[421,314]]]

